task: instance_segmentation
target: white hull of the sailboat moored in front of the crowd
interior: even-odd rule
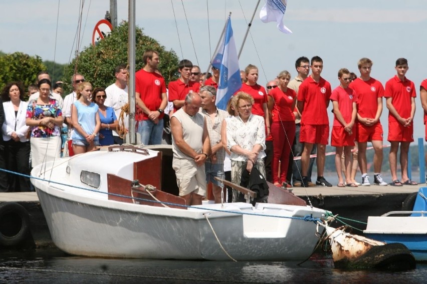
[[[42,189],[40,183],[36,190],[52,239],[70,254],[230,260],[216,234],[236,260],[285,260],[305,259],[317,242],[316,225],[312,221],[82,198],[49,185]],[[220,209],[220,204],[212,205],[210,208]],[[255,211],[246,203],[228,207],[230,211],[269,211],[282,216],[321,217],[323,212],[305,206],[271,204],[269,209],[267,204],[261,205],[266,207]]]

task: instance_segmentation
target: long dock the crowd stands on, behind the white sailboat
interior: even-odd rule
[[[310,203],[314,207],[323,208],[338,214],[341,221],[350,225],[354,233],[361,234],[366,228],[369,215],[378,216],[388,211],[402,209],[402,203],[408,196],[417,192],[418,185],[403,186],[358,186],[358,187],[292,187],[292,192]],[[2,221],[1,208],[5,202],[13,202],[22,205],[28,212],[29,233],[25,241],[26,246],[46,247],[54,246],[48,229],[46,218],[43,214],[39,198],[36,192],[2,192],[0,193],[0,221]],[[342,217],[342,218],[341,218]],[[3,221],[6,216],[3,216]],[[337,222],[333,226],[344,223]],[[2,230],[2,227],[0,227]],[[0,233],[4,233],[0,231]],[[2,238],[0,237],[0,247]],[[4,245],[3,245],[4,246]]]

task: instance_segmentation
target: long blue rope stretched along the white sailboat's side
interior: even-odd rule
[[[130,198],[130,199],[135,199],[135,200],[140,200],[140,201],[146,201],[146,202],[153,202],[153,203],[159,203],[159,204],[179,206],[179,207],[184,207],[184,208],[196,208],[196,209],[209,210],[209,211],[235,213],[235,214],[241,214],[241,215],[255,215],[255,216],[265,216],[265,217],[299,219],[299,220],[304,220],[304,221],[313,221],[314,223],[316,223],[317,221],[323,222],[322,219],[313,217],[313,214],[306,215],[304,217],[278,216],[278,215],[270,215],[270,214],[258,214],[258,213],[250,213],[250,212],[237,212],[237,211],[230,211],[230,210],[221,210],[221,209],[215,209],[215,208],[205,208],[205,207],[198,207],[198,206],[194,206],[194,205],[193,206],[189,206],[189,205],[182,205],[182,204],[176,204],[176,203],[171,203],[171,202],[163,202],[163,201],[149,200],[149,199],[144,199],[144,198],[139,198],[139,197],[132,197],[132,196],[127,196],[127,195],[118,194],[118,193],[103,192],[103,191],[99,191],[99,190],[95,190],[95,189],[90,189],[90,188],[86,188],[86,187],[70,185],[70,184],[66,184],[66,183],[63,183],[63,182],[59,182],[59,181],[54,181],[54,180],[44,179],[44,178],[40,178],[40,177],[36,177],[36,176],[32,176],[32,175],[27,175],[27,174],[24,174],[24,173],[19,173],[19,172],[11,171],[11,170],[7,170],[7,169],[4,169],[4,168],[0,168],[0,170],[8,172],[8,173],[12,173],[12,174],[17,174],[17,175],[21,175],[21,176],[33,178],[33,179],[47,181],[49,183],[56,183],[56,184],[70,186],[70,187],[79,188],[79,189],[84,189],[84,190],[88,190],[88,191],[92,191],[92,192],[109,194],[109,195],[114,195],[114,196],[118,196],[118,197]],[[325,214],[326,214],[326,211],[325,211]]]

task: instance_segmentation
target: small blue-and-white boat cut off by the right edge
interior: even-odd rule
[[[369,216],[366,236],[386,243],[403,243],[415,260],[427,261],[427,187],[420,187],[410,211],[390,211]]]

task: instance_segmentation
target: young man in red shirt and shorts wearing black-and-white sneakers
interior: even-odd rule
[[[384,87],[381,82],[370,76],[372,60],[362,58],[357,62],[360,77],[354,79],[349,87],[357,93],[356,141],[359,148],[358,160],[362,172],[362,185],[371,185],[367,174],[366,146],[372,142],[374,148],[374,183],[387,185],[380,175],[382,164],[382,125],[379,117],[382,112]]]

